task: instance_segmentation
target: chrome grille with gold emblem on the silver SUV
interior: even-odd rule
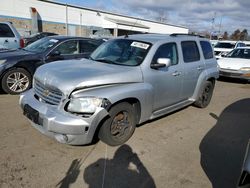
[[[38,80],[34,80],[33,88],[36,97],[38,97],[38,100],[42,102],[52,105],[58,105],[62,99],[61,91],[47,87]]]

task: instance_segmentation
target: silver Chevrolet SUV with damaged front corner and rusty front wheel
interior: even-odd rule
[[[115,146],[137,124],[190,104],[206,107],[218,75],[205,38],[130,35],[103,43],[90,59],[41,66],[20,105],[35,128],[61,143],[98,136]]]

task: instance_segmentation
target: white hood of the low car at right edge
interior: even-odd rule
[[[223,69],[238,70],[242,67],[250,67],[250,59],[222,58],[222,59],[219,59],[217,62],[220,68],[223,68]]]

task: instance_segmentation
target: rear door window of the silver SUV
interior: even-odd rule
[[[181,42],[183,60],[185,63],[190,63],[200,60],[200,53],[195,41]]]

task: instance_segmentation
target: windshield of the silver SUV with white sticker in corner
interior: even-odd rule
[[[116,39],[103,43],[90,56],[90,59],[103,63],[137,66],[146,57],[149,43],[129,39]]]

